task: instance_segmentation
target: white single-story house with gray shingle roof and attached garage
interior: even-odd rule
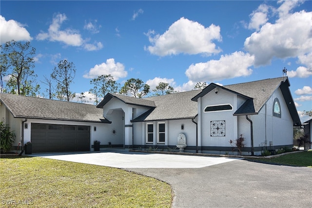
[[[97,106],[0,94],[0,118],[17,133],[15,148],[20,136],[33,152],[92,150],[95,140],[171,151],[183,135],[186,152],[237,154],[230,140],[243,135],[243,154],[261,155],[293,146],[301,123],[289,86],[285,77],[149,98],[108,93]]]

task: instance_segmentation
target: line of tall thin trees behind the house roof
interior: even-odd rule
[[[61,60],[52,70],[49,76],[43,76],[40,81],[44,86],[40,93],[41,86],[37,82],[38,76],[33,68],[35,67],[36,48],[30,45],[30,42],[16,42],[14,40],[4,43],[0,46],[0,92],[12,93],[24,96],[36,97],[38,95],[61,101],[72,101],[76,93],[70,90],[74,83],[76,67],[73,62]],[[4,85],[5,83],[5,85]],[[120,86],[110,74],[101,75],[90,81],[92,85],[89,92],[94,95],[94,100],[98,104],[106,93],[119,93],[123,95],[132,95],[136,98],[142,98],[148,95],[150,86],[140,79],[131,78],[123,86]],[[197,83],[195,88],[204,88],[206,83]],[[152,90],[152,96],[166,95],[176,93],[174,87],[169,83],[160,82],[156,89]],[[84,93],[78,100],[83,102]]]

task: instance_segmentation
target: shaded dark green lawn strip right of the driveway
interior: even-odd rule
[[[292,154],[281,155],[274,158],[252,159],[252,161],[262,161],[268,163],[277,163],[288,166],[308,166],[312,167],[312,151],[296,152]]]

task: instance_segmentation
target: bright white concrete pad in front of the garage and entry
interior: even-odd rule
[[[32,156],[117,168],[200,168],[238,160],[237,158],[156,154],[124,150],[35,153]]]

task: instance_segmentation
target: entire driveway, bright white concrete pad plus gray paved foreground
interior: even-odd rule
[[[118,167],[170,184],[173,208],[312,207],[312,168],[233,158],[134,152],[33,154]]]

